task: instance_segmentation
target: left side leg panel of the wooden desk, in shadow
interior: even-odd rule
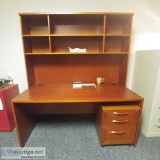
[[[34,107],[30,104],[13,103],[12,110],[20,147],[24,147],[34,126],[36,118]]]

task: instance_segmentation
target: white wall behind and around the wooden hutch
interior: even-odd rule
[[[27,88],[19,12],[133,12],[133,40],[127,86],[136,50],[160,49],[160,0],[0,0],[0,78],[11,75]]]

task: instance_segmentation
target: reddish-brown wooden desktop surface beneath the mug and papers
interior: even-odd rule
[[[13,103],[66,103],[140,101],[142,98],[124,86],[102,84],[95,88],[73,88],[71,83],[33,85]]]

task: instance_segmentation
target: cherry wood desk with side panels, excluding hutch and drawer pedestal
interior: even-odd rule
[[[102,106],[138,106],[134,137],[131,142],[127,142],[136,145],[142,104],[140,96],[120,85],[104,83],[95,88],[72,88],[71,83],[57,83],[31,86],[12,100],[12,110],[19,145],[23,147],[36,125],[36,115],[95,114],[98,136],[101,139]],[[102,141],[100,140],[101,145]]]

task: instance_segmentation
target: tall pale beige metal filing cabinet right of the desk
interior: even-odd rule
[[[133,90],[144,97],[141,131],[160,136],[160,50],[137,51]]]

